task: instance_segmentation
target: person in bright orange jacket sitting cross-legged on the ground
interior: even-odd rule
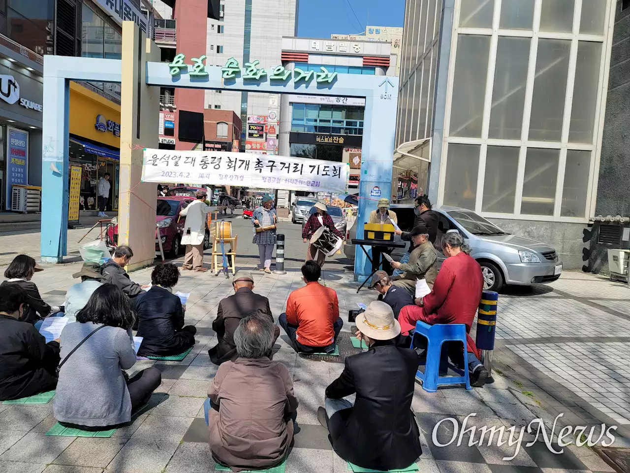
[[[278,324],[287,332],[295,349],[301,353],[331,353],[343,327],[335,289],[318,283],[321,267],[313,260],[302,265],[306,286],[289,294],[287,312]]]

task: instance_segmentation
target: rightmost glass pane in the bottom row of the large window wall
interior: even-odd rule
[[[583,217],[586,214],[590,156],[590,151],[566,151],[560,207],[560,215],[563,217]]]

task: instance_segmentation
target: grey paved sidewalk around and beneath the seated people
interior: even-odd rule
[[[63,303],[66,289],[76,282],[71,274],[77,267],[79,264],[47,267],[36,274],[33,280],[43,298],[51,304]],[[134,272],[132,278],[138,283],[147,283],[150,271]],[[289,269],[284,276],[253,274],[255,291],[270,298],[276,317],[284,310],[289,292],[303,285],[301,274],[295,269]],[[297,356],[284,334],[277,342],[274,359],[289,368],[300,403],[299,428],[286,464],[288,473],[347,471],[347,464],[331,450],[327,431],[319,425],[316,412],[323,404],[326,385],[343,370],[344,357],[359,351],[350,344],[348,310],[356,308],[358,302],[369,303],[376,296],[374,291],[365,289],[357,294],[357,286],[351,279],[348,272],[324,269],[324,283],[336,289],[345,322],[340,337],[340,358],[320,361]],[[190,272],[183,273],[177,289],[191,293],[186,323],[197,326],[197,344],[181,362],[138,361],[129,370],[134,373],[153,365],[162,371],[163,383],[152,397],[151,409],[129,427],[118,429],[112,438],[75,438],[44,435],[55,423],[52,402],[35,406],[0,404],[0,425],[3,427],[0,431],[1,472],[201,473],[214,470],[202,404],[217,367],[211,365],[207,350],[216,343],[211,326],[219,300],[230,295],[233,289],[229,279],[223,276]],[[428,394],[416,385],[412,407],[422,433],[424,453],[418,462],[420,471],[612,472],[613,469],[588,447],[565,447],[563,453],[556,455],[541,441],[542,436],[526,447],[525,443],[534,440],[527,431],[518,455],[510,461],[502,458],[513,455],[518,445],[516,442],[499,447],[495,440],[488,445],[486,435],[483,445],[469,447],[470,433],[466,433],[460,447],[456,446],[457,435],[454,443],[437,447],[433,444],[432,433],[440,420],[453,418],[454,421],[440,424],[435,439],[438,443],[448,443],[454,434],[454,423],[457,423],[458,431],[463,430],[464,419],[473,412],[476,416],[467,419],[468,428],[516,426],[518,436],[520,426],[542,418],[549,432],[556,411],[576,412],[578,406],[583,406],[580,409],[590,416],[584,418],[585,421],[598,419],[622,424],[628,419],[628,390],[617,386],[630,382],[627,371],[624,371],[628,365],[624,362],[627,349],[624,351],[623,344],[629,336],[630,308],[627,298],[626,302],[618,299],[627,295],[627,290],[625,286],[610,284],[597,277],[566,273],[556,283],[541,286],[533,293],[525,291],[527,295],[524,295],[517,291],[510,295],[508,291],[501,295],[495,359],[505,377],[496,374],[495,383],[471,391],[452,388]],[[617,310],[619,306],[624,307],[623,311]],[[597,346],[597,351],[591,345],[585,345],[585,340],[593,347]],[[617,342],[622,344],[616,345]],[[627,340],[625,342],[627,345]],[[581,367],[571,363],[578,358],[586,359],[587,354],[590,358],[587,362],[582,361]],[[585,373],[580,374],[578,370]],[[572,378],[573,371],[578,375]],[[597,373],[604,371],[608,371],[605,377],[597,377]],[[595,378],[597,381],[590,381]],[[571,379],[575,381],[570,383]],[[577,383],[577,380],[583,383]],[[558,385],[557,392],[550,388],[556,386],[554,383]],[[548,402],[546,396],[552,395],[558,396],[553,398],[556,404]],[[572,401],[575,406],[564,406],[565,395],[579,397],[580,402],[576,400]],[[605,407],[609,405],[613,407]],[[604,409],[609,409],[610,417]],[[580,424],[580,421],[575,418],[575,422],[571,419],[570,423]],[[556,428],[556,434],[558,430]],[[479,440],[478,433],[473,433],[473,437],[475,441]],[[555,441],[554,437],[551,447],[561,450]]]

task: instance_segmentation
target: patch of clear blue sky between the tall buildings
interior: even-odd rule
[[[369,24],[375,26],[403,26],[404,23],[404,0],[299,0],[299,2],[297,34],[302,37],[329,38],[331,33],[365,32],[368,16]]]

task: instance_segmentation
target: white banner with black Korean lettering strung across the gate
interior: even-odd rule
[[[145,149],[142,181],[347,192],[350,165],[227,151]]]

